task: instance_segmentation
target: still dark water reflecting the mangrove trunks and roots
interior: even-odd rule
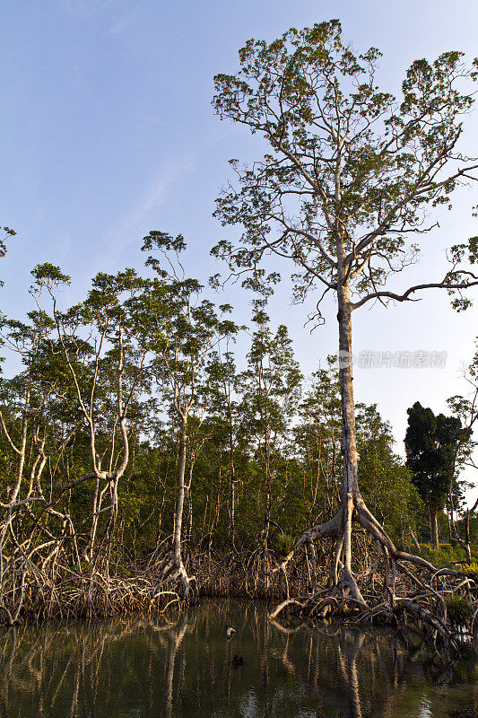
[[[388,632],[284,630],[258,603],[204,602],[172,626],[4,630],[0,661],[2,718],[478,716],[475,657],[446,666]]]

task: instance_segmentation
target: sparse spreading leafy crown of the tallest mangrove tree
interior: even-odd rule
[[[220,241],[214,256],[253,276],[266,254],[290,258],[301,301],[317,283],[336,291],[341,255],[355,307],[400,298],[381,287],[416,258],[410,232],[423,232],[427,206],[450,205],[462,173],[473,175],[455,145],[477,62],[467,67],[455,51],[417,60],[395,99],[378,87],[380,57],[377,48],[354,53],[331,20],[272,42],[249,39],[238,72],[216,75],[216,113],[261,136],[265,153],[246,166],[230,161],[237,185],[218,198],[216,216],[243,233],[236,246]],[[474,283],[460,262],[473,263],[475,245],[452,250],[448,293]]]

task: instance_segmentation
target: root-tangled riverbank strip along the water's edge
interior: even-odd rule
[[[385,556],[375,563],[369,551],[357,551],[355,556],[363,605],[351,594],[331,587],[334,556],[326,550],[317,553],[315,566],[304,553],[287,574],[276,570],[279,557],[245,550],[190,552],[186,567],[195,588],[194,602],[267,600],[271,616],[285,624],[313,619],[323,626],[336,620],[348,626],[388,625],[402,632],[415,631],[429,644],[447,650],[451,646],[455,651],[461,650],[464,627],[469,636],[478,629],[478,585],[473,577],[445,567],[430,581],[420,571],[405,568],[395,578],[392,595],[387,588]],[[4,623],[119,616],[173,620],[187,609],[188,602],[174,584],[158,581],[163,560],[151,556],[129,565],[97,562],[83,573],[58,565],[54,584],[24,581],[21,594],[7,594],[11,604],[2,613]]]

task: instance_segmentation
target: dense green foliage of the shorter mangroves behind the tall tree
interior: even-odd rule
[[[288,329],[267,316],[266,292],[253,301],[246,339],[230,306],[215,307],[196,279],[184,276],[182,237],[152,232],[144,249],[155,252],[153,278],[129,268],[101,272],[71,307],[59,305],[57,289],[69,282],[59,267],[33,270],[33,310],[3,325],[4,350],[22,363],[0,381],[0,491],[8,496],[15,485],[15,447],[26,427],[20,495],[42,492],[54,502],[51,521],[71,519],[80,553],[98,515],[98,545],[108,545],[118,562],[141,561],[168,545],[185,430],[185,548],[229,547],[234,535],[241,547],[266,540],[285,555],[338,506],[335,358],[304,384]],[[238,337],[249,342],[242,371]],[[376,406],[357,407],[357,429],[364,497],[405,544],[420,503],[410,473]],[[24,526],[42,510],[33,503]]]

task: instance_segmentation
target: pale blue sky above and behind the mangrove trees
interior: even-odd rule
[[[72,276],[65,301],[80,299],[99,270],[141,267],[141,238],[152,229],[184,233],[191,273],[205,280],[218,271],[208,252],[225,234],[213,200],[230,177],[227,160],[256,156],[260,143],[213,116],[213,74],[233,72],[250,37],[274,39],[332,17],[355,48],[382,50],[378,80],[393,91],[417,57],[478,54],[475,0],[4,0],[0,223],[18,235],[0,269],[3,310],[29,309],[29,273],[38,262]],[[478,108],[466,122],[465,148],[478,155]],[[439,217],[421,265],[398,287],[443,274],[444,248],[478,234],[476,203],[474,188],[461,192],[453,213]],[[230,290],[228,299],[247,320],[248,298]],[[312,336],[305,313],[291,307],[284,280],[271,315],[290,325],[311,372],[335,351],[335,310],[326,307],[326,327]],[[377,402],[397,439],[415,400],[443,410],[448,396],[464,390],[460,363],[474,352],[476,310],[456,315],[446,297],[430,293],[412,306],[362,310],[354,320],[357,352],[448,352],[445,369],[355,371],[357,399]]]

